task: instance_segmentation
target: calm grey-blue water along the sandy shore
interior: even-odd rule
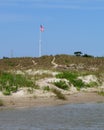
[[[104,130],[104,104],[3,110],[0,130]]]

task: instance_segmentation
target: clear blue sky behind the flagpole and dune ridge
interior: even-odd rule
[[[0,58],[104,56],[104,0],[0,0]]]

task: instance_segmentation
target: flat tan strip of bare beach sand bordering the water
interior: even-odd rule
[[[3,101],[4,106],[1,109],[8,108],[32,108],[32,107],[48,107],[66,104],[79,103],[104,103],[104,96],[98,95],[96,92],[78,92],[71,95],[66,95],[66,100],[58,99],[55,96],[51,97],[34,97],[27,96],[2,96],[0,100]]]

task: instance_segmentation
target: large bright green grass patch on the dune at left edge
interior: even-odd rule
[[[4,95],[10,95],[17,92],[21,87],[28,87],[31,90],[38,86],[36,86],[35,82],[31,79],[26,78],[23,75],[7,72],[0,73],[0,91],[2,91]]]

